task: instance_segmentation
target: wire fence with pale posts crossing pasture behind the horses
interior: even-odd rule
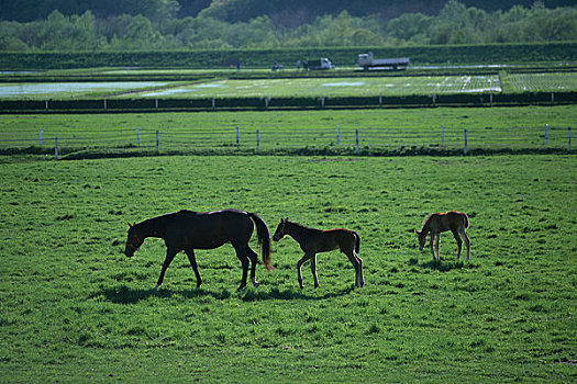
[[[340,127],[281,129],[274,125],[248,128],[238,126],[155,128],[101,128],[46,132],[1,132],[0,151],[24,149],[57,154],[79,150],[181,153],[281,153],[298,149],[329,151],[398,151],[407,148],[435,149],[463,154],[485,151],[536,150],[570,153],[570,127],[547,124],[523,127]]]

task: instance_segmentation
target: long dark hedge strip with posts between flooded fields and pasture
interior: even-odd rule
[[[210,110],[267,110],[322,108],[474,106],[577,103],[577,92],[455,93],[406,97],[347,98],[228,98],[228,99],[116,99],[116,100],[0,100],[2,113],[34,112],[155,112]]]

